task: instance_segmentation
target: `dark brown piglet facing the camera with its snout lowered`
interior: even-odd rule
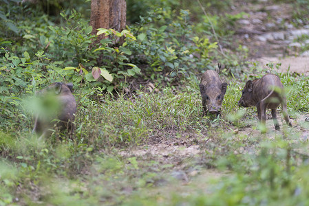
[[[227,84],[222,83],[216,71],[207,70],[203,73],[199,86],[202,95],[203,115],[206,115],[207,112],[220,114]]]

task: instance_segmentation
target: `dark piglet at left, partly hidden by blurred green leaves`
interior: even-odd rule
[[[38,133],[41,137],[46,135],[52,128],[52,120],[56,118],[58,119],[56,127],[61,131],[67,128],[69,136],[72,137],[76,113],[76,101],[72,89],[72,83],[55,82],[36,93],[42,99],[45,111],[36,114],[32,132]]]

